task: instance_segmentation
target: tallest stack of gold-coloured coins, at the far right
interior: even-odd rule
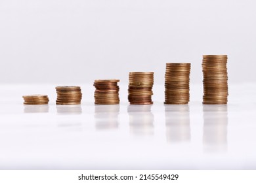
[[[228,102],[228,73],[226,55],[203,56],[203,104]]]

